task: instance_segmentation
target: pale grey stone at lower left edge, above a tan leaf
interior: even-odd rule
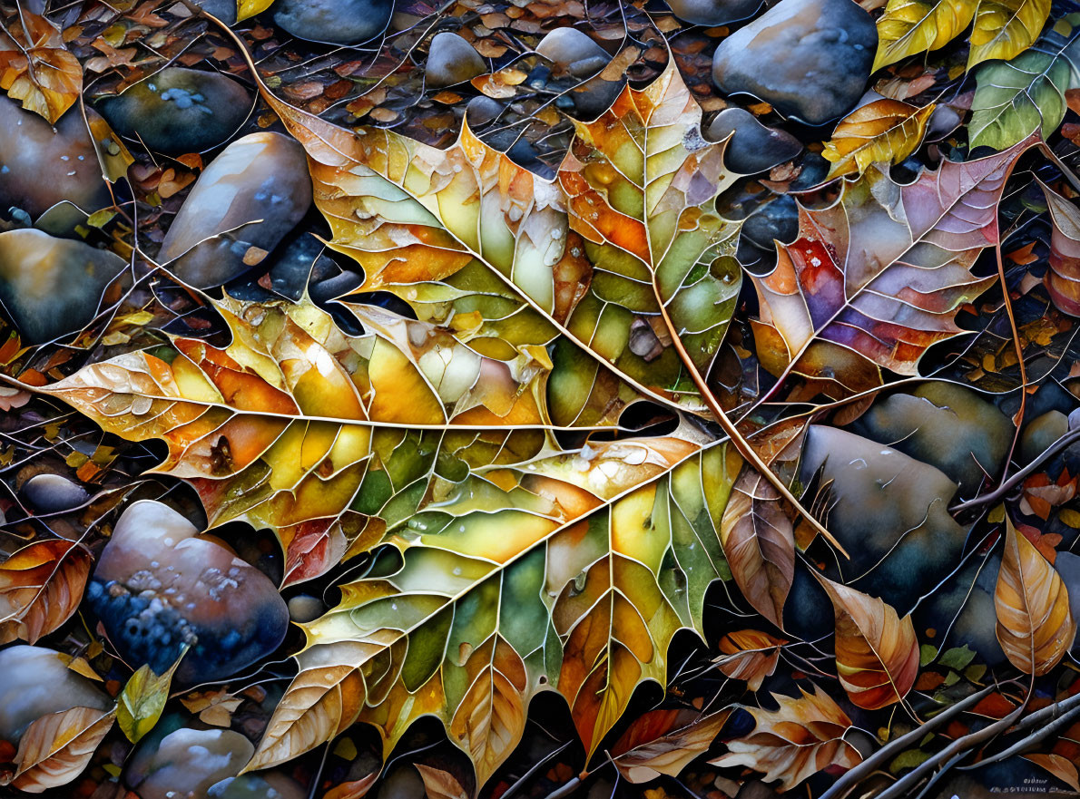
[[[107,710],[112,700],[51,649],[17,644],[0,650],[0,739],[17,744],[36,719],[72,707]]]

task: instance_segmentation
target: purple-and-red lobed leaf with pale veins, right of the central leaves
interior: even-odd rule
[[[879,382],[868,380],[863,364],[918,374],[931,344],[961,333],[960,307],[994,280],[970,269],[999,239],[997,204],[1031,141],[946,161],[904,186],[870,166],[833,205],[800,207],[799,238],[777,245],[771,273],[751,275],[762,365],[849,391]],[[852,361],[859,356],[862,364]]]

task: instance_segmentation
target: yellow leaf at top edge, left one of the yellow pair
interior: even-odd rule
[[[944,48],[971,25],[976,0],[889,0],[877,23],[874,70]]]

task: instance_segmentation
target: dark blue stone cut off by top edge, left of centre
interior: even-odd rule
[[[393,0],[278,0],[274,25],[300,39],[327,44],[361,44],[390,24]]]

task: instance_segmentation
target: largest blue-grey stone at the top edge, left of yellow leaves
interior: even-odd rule
[[[874,21],[853,0],[781,0],[720,42],[713,80],[821,125],[862,96],[876,49]]]

